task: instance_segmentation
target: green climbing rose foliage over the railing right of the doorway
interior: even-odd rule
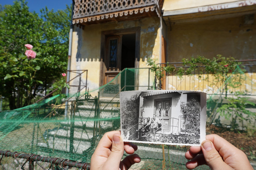
[[[219,125],[219,118],[216,119],[216,115],[224,117],[225,119],[231,119],[231,129],[237,129],[238,121],[241,122],[244,127],[244,121],[249,121],[256,119],[255,113],[247,109],[248,106],[255,106],[255,103],[248,101],[248,97],[245,97],[247,91],[240,89],[243,81],[245,80],[244,67],[239,66],[241,62],[236,62],[233,57],[223,57],[222,55],[217,55],[212,59],[205,58],[203,56],[192,57],[190,59],[182,59],[182,67],[175,67],[170,64],[156,64],[156,61],[148,58],[147,64],[151,66],[152,71],[155,73],[158,87],[156,89],[161,89],[161,81],[165,79],[166,75],[176,75],[180,79],[185,78],[185,76],[197,74],[197,78],[202,81],[208,81],[209,86],[214,89],[214,87],[219,87],[216,91],[218,94],[217,99],[210,98],[207,101],[207,122],[212,124],[214,121]],[[239,89],[239,90],[236,90]],[[227,97],[227,92],[234,93],[233,97]],[[225,97],[224,97],[225,96]],[[226,101],[223,103],[223,101]],[[188,103],[190,104],[190,103]],[[183,113],[185,114],[185,113]],[[251,127],[252,128],[252,127]]]

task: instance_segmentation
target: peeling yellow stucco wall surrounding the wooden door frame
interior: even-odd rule
[[[73,32],[71,70],[88,70],[87,84],[90,91],[98,89],[100,83],[101,32],[133,27],[140,27],[139,67],[148,67],[145,64],[146,57],[158,59],[160,54],[160,20],[158,17],[93,24],[85,26],[84,29],[75,27]],[[149,32],[149,27],[154,27],[155,31]],[[72,77],[74,77],[74,74],[71,74],[70,78]],[[85,80],[85,75],[82,79]],[[140,80],[143,80],[143,78]]]

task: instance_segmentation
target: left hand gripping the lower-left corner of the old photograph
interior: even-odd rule
[[[130,142],[123,142],[120,131],[111,131],[103,135],[91,157],[91,170],[127,170],[140,157],[133,154],[138,147]],[[128,154],[122,161],[124,151]]]

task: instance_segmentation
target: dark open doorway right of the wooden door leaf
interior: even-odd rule
[[[121,70],[135,67],[135,36],[136,34],[124,34],[122,36]],[[127,69],[121,73],[122,91],[134,90],[134,69]]]

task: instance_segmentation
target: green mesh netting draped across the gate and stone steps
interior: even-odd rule
[[[70,94],[67,97],[57,95],[13,111],[2,111],[0,150],[90,163],[91,155],[103,134],[120,129],[119,92],[154,89],[154,82],[154,73],[148,68],[124,69],[110,83],[89,93],[79,92],[79,95]],[[95,93],[97,96],[92,96],[96,97],[90,95]],[[211,101],[217,103],[212,98]],[[68,99],[68,105],[65,105]],[[136,153],[142,162],[131,169],[163,169],[164,165],[165,169],[186,169],[184,154],[188,147],[136,144]],[[1,164],[4,169],[20,169],[20,164],[25,161],[3,158]],[[47,163],[40,164],[45,169],[50,167]],[[42,168],[35,165],[34,169]],[[209,168],[200,166],[196,169]]]

